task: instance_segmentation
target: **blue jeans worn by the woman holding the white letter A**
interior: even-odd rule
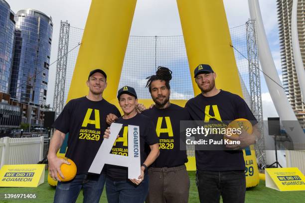
[[[129,180],[112,181],[106,178],[106,194],[108,203],[144,203],[148,194],[149,179],[147,173],[140,185]]]

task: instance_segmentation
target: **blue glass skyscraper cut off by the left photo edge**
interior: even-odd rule
[[[14,13],[5,0],[0,0],[0,92],[3,93],[9,91],[14,31]]]

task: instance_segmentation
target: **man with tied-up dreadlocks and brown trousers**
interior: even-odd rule
[[[171,71],[158,67],[156,74],[148,77],[146,87],[155,105],[142,113],[156,125],[160,155],[148,169],[149,194],[147,203],[187,203],[189,177],[185,163],[186,151],[180,150],[180,120],[190,120],[186,109],[169,102]],[[143,106],[138,106],[138,110]],[[107,116],[110,124],[117,117]]]

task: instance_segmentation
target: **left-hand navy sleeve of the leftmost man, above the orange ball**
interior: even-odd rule
[[[61,111],[57,119],[54,121],[53,127],[62,133],[69,132],[70,120],[72,116],[71,107],[72,107],[72,102],[70,101],[65,105],[64,109]]]

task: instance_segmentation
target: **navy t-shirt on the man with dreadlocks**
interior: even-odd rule
[[[171,103],[167,108],[147,109],[142,112],[153,121],[159,139],[160,155],[152,167],[176,167],[186,163],[186,150],[180,150],[180,121],[190,120],[189,113],[181,106]]]

